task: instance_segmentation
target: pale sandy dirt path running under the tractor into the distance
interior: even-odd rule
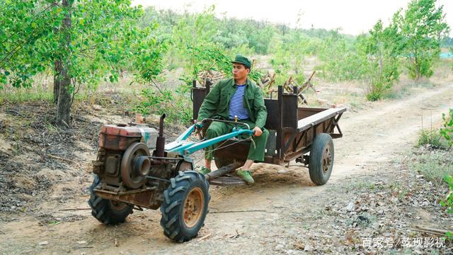
[[[199,238],[185,244],[174,244],[164,237],[159,211],[136,211],[125,224],[117,227],[101,225],[88,210],[59,211],[86,208],[86,195],[62,203],[42,204],[40,209],[45,212],[42,217],[47,220],[18,216],[19,220],[2,222],[0,253],[297,253],[297,249],[288,247],[298,246],[302,235],[312,240],[329,238],[329,231],[323,230],[325,226],[319,221],[303,220],[306,215],[318,217],[316,212],[336,198],[333,191],[345,181],[358,175],[372,178],[379,169],[390,168],[389,162],[413,146],[422,115],[423,126],[428,128],[431,115],[432,123],[438,123],[441,113],[452,106],[453,84],[423,91],[403,101],[375,103],[373,108],[360,113],[345,113],[340,120],[344,137],[335,141],[335,166],[325,186],[314,186],[308,171],[294,162],[289,168],[256,164],[253,171],[256,185],[211,187],[210,213],[205,227]],[[86,167],[88,172],[88,165]],[[74,181],[72,185],[86,194],[86,181]],[[59,192],[64,190],[56,188],[52,196],[58,196]],[[317,229],[316,236],[310,236],[310,229]],[[307,248],[302,247],[302,250],[311,251]]]

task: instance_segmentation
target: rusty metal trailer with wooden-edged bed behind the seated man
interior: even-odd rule
[[[197,86],[193,81],[193,119],[197,120],[198,111],[207,94],[210,92],[210,81],[204,87]],[[277,96],[265,98],[268,118],[265,128],[269,131],[268,142],[265,147],[263,163],[285,165],[295,160],[308,167],[310,179],[316,185],[325,184],[331,176],[334,159],[333,139],[343,137],[338,121],[346,108],[309,108],[298,106],[298,91],[294,86],[294,93],[284,93],[283,87],[278,86]],[[209,126],[208,120],[205,129]],[[230,146],[231,145],[231,146]],[[238,142],[236,139],[222,143],[222,148],[214,152],[214,162],[218,169],[236,162],[238,167],[246,161],[250,141]],[[242,180],[224,177],[222,173],[211,173],[210,183],[220,186],[245,184]]]

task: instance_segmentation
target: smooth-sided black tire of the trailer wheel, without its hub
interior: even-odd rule
[[[323,151],[326,149],[326,146],[331,147],[332,162],[327,173],[324,174]],[[311,145],[309,156],[309,173],[313,183],[316,185],[324,185],[327,183],[332,174],[334,155],[332,137],[326,133],[316,135],[314,142]]]

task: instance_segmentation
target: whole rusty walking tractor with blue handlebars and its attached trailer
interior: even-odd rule
[[[209,85],[197,88],[194,84],[194,119]],[[332,138],[342,136],[338,120],[345,108],[298,108],[297,93],[284,94],[281,86],[277,99],[265,99],[265,105],[265,128],[270,132],[265,163],[284,165],[295,159],[308,166],[311,181],[326,183],[333,167]],[[235,128],[228,134],[205,140],[212,121],[230,122],[207,119],[203,128],[192,125],[165,144],[164,118],[162,115],[159,131],[134,123],[103,125],[88,204],[93,217],[112,225],[124,222],[132,210],[161,208],[166,237],[185,242],[196,237],[204,224],[210,184],[245,184],[229,173],[246,161],[248,148],[253,146],[253,130],[234,121]],[[335,128],[339,133],[334,133]],[[188,140],[193,133],[200,139]],[[218,170],[203,176],[193,171],[190,154],[210,145],[217,145],[212,153]]]

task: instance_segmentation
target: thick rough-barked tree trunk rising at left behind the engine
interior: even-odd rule
[[[64,40],[61,41],[61,47],[64,48],[66,54],[60,55],[57,60],[59,69],[57,70],[58,96],[57,96],[57,125],[70,128],[70,114],[71,114],[71,77],[69,77],[69,44],[71,43],[71,7],[74,0],[63,0],[62,6],[67,8],[68,12],[63,19],[62,29]],[[56,67],[57,67],[56,66]],[[55,88],[54,88],[55,89]],[[55,90],[54,90],[55,91]]]

